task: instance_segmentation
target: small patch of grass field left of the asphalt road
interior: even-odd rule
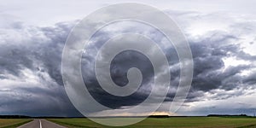
[[[30,121],[32,121],[32,119],[0,119],[0,127],[15,128]]]

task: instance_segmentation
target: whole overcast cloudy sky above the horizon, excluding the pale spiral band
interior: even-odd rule
[[[78,116],[64,90],[61,79],[61,52],[68,33],[79,20],[96,9],[112,3],[138,2],[154,6],[177,22],[188,38],[194,59],[194,78],[189,96],[176,115],[209,113],[253,115],[256,108],[256,1],[218,0],[193,2],[169,1],[1,1],[0,3],[0,114]],[[134,24],[137,25],[137,24]],[[108,34],[147,30],[147,26],[119,23],[112,30],[96,34],[98,48]],[[177,55],[172,46],[164,47],[172,56],[172,84],[177,84]],[[96,85],[91,73],[91,56],[84,54],[83,73],[87,84]],[[126,58],[126,59],[125,59]],[[136,60],[136,64],[131,61]],[[83,63],[82,61],[82,63]],[[86,63],[86,61],[89,61]],[[113,80],[125,84],[125,71],[135,66],[142,70],[145,85],[141,91],[120,99],[97,87],[93,96],[110,108],[137,105],[148,96],[151,65],[138,53],[123,53],[113,61]],[[86,83],[86,82],[85,82]],[[169,92],[159,112],[166,112],[172,102]],[[154,105],[154,103],[153,103]],[[101,111],[98,114],[109,114]],[[134,112],[140,113],[140,112]],[[130,113],[124,113],[130,114]],[[132,115],[132,113],[131,113]]]

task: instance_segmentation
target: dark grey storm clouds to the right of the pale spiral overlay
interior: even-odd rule
[[[211,92],[216,89],[246,89],[255,84],[254,77],[252,77],[253,74],[249,76],[241,75],[243,71],[253,68],[253,65],[239,64],[226,67],[223,60],[226,57],[234,57],[239,60],[253,62],[256,61],[255,56],[242,51],[241,46],[236,44],[238,39],[234,38],[234,36],[230,36],[228,33],[222,35],[215,33],[221,32],[213,32],[213,34],[210,32],[208,36],[211,39],[190,42],[194,59],[194,78],[188,98],[190,102],[200,101],[198,98],[201,98],[203,92]],[[230,62],[233,63],[233,61]],[[201,91],[201,93],[198,93],[198,91]],[[212,100],[244,95],[243,92],[229,96],[222,96],[218,92],[216,93],[217,96],[215,98],[212,97]]]

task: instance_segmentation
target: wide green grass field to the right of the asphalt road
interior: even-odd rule
[[[65,125],[68,128],[81,128],[81,127],[108,127],[106,125],[96,124],[90,119],[49,119],[59,125]],[[256,128],[256,118],[245,117],[174,117],[174,118],[148,118],[136,125],[125,126],[127,128],[186,128],[186,127],[244,127],[244,128]]]

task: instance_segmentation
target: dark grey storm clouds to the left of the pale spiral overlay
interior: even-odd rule
[[[1,114],[80,115],[69,102],[61,79],[61,51],[72,26],[17,23],[1,30]]]

